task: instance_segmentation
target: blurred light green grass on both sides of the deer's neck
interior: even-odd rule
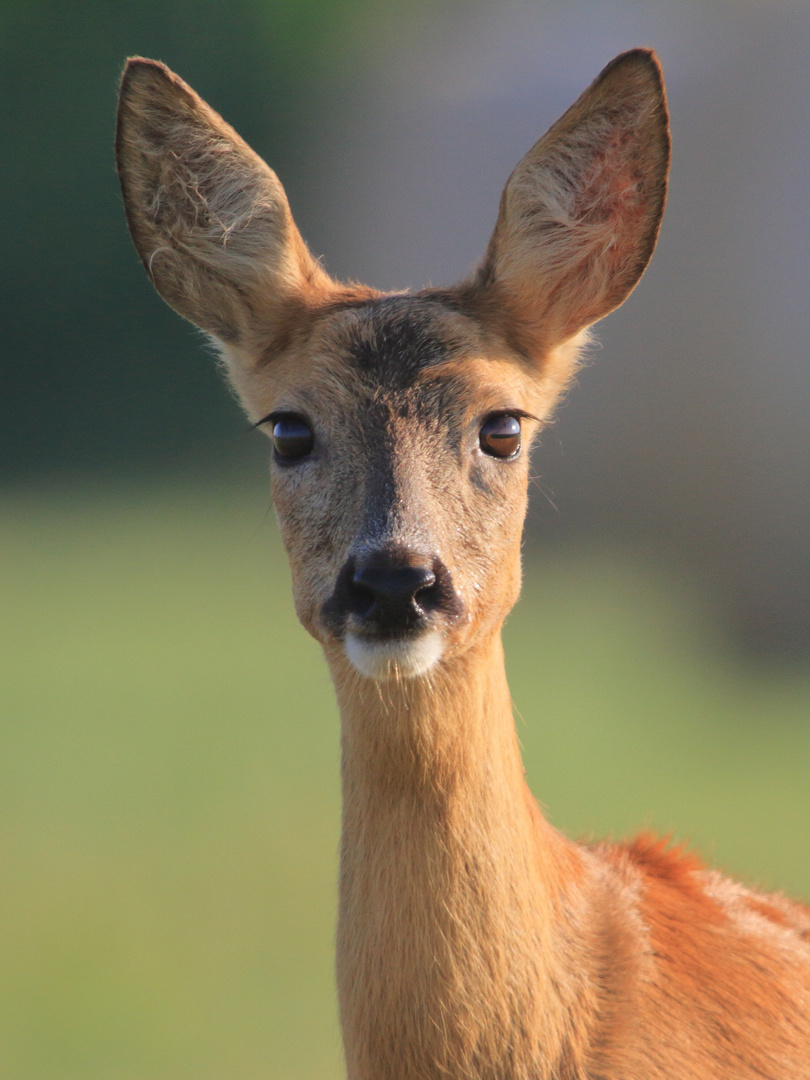
[[[0,498],[0,1077],[328,1080],[338,723],[261,486]],[[529,561],[507,632],[567,832],[810,897],[810,673],[681,582]]]

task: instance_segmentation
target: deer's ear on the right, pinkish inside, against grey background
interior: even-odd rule
[[[656,55],[622,53],[512,173],[472,298],[535,355],[608,314],[652,254],[669,164]]]

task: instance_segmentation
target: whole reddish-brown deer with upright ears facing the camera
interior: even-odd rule
[[[334,281],[275,173],[159,62],[127,62],[117,160],[149,278],[270,437],[334,681],[349,1080],[810,1080],[810,909],[667,839],[555,829],[504,673],[530,445],[658,238],[654,52],[528,151],[450,287]]]

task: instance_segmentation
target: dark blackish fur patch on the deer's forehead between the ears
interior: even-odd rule
[[[464,336],[458,312],[446,301],[387,296],[347,312],[341,345],[364,382],[395,392],[411,387],[426,367],[459,355]]]

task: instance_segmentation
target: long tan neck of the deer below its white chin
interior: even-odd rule
[[[524,782],[500,635],[430,679],[332,666],[350,1080],[556,1075],[582,856]]]

